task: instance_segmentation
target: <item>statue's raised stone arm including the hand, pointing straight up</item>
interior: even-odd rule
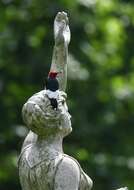
[[[54,20],[54,39],[52,64],[50,71],[57,71],[59,74],[59,89],[66,90],[67,84],[67,57],[68,44],[70,42],[70,29],[67,13],[58,12]]]

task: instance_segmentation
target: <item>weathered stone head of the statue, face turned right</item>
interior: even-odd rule
[[[26,126],[38,135],[68,135],[72,131],[71,116],[66,105],[66,93],[59,92],[58,109],[54,110],[46,90],[33,95],[24,104],[22,116]]]

